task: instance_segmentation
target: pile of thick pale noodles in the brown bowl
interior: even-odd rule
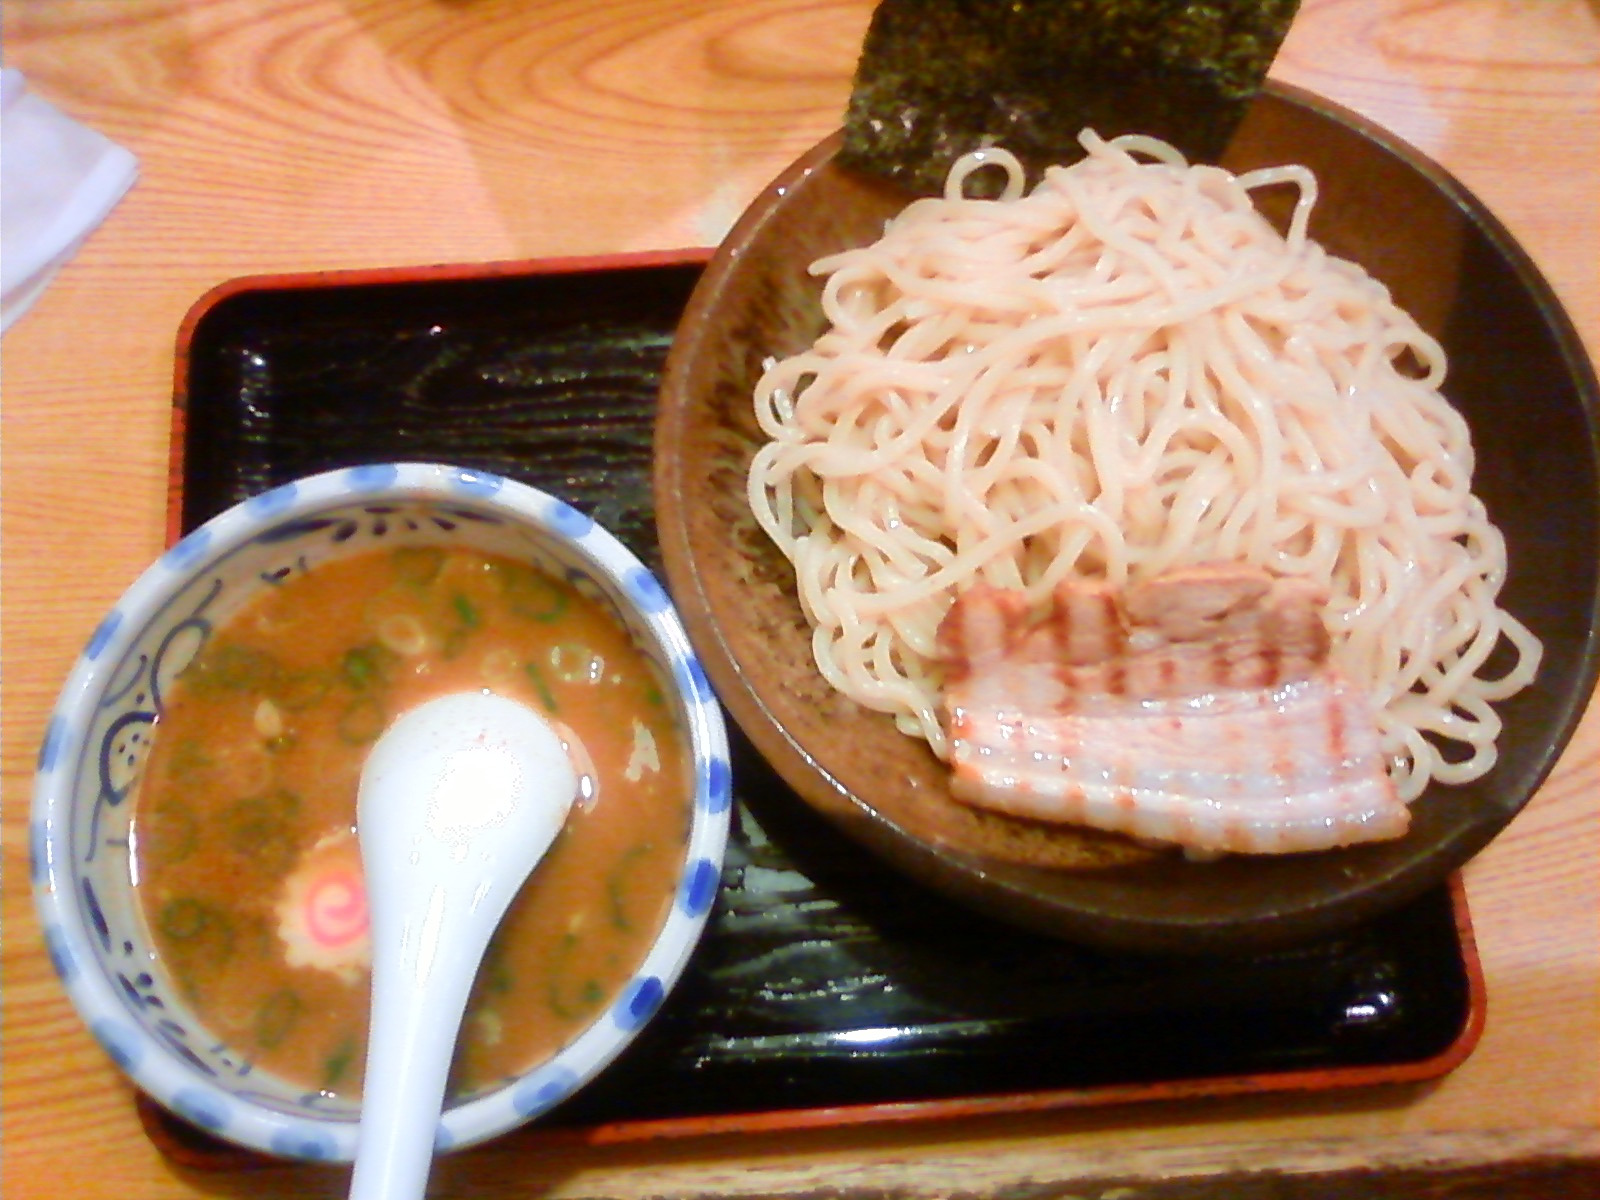
[[[1325,584],[1405,798],[1480,776],[1490,702],[1541,648],[1496,605],[1504,541],[1442,347],[1306,237],[1309,170],[1082,142],[1027,195],[1010,154],[968,155],[942,198],[811,267],[830,328],[757,387],[749,494],[822,675],[944,757],[934,630],[973,581],[1043,598],[1250,562]],[[1008,174],[998,200],[965,198],[976,170]],[[1299,189],[1288,237],[1250,197],[1277,184]],[[1482,678],[1502,637],[1517,666]]]

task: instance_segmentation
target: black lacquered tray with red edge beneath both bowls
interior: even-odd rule
[[[437,459],[562,496],[659,571],[656,387],[702,264],[686,251],[213,291],[179,341],[174,534],[296,475]],[[1454,882],[1294,950],[1086,950],[885,870],[730,734],[734,829],[696,958],[627,1054],[541,1128],[626,1138],[1406,1082],[1477,1040],[1482,978]],[[168,1150],[206,1158],[203,1139],[163,1138],[168,1118],[146,1115]]]

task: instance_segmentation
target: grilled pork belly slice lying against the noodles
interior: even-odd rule
[[[950,792],[1200,853],[1405,834],[1371,709],[1328,662],[1323,597],[1253,566],[986,584],[939,626]]]

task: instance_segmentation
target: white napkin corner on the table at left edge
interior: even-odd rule
[[[0,70],[0,331],[27,312],[56,270],[139,174],[122,146]]]

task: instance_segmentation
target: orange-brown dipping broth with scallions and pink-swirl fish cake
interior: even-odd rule
[[[179,677],[134,810],[157,957],[219,1038],[307,1090],[360,1093],[368,947],[354,838],[378,734],[490,688],[576,734],[579,798],[478,973],[453,1090],[558,1050],[643,960],[690,822],[651,664],[565,582],[461,549],[374,550],[254,598]]]

